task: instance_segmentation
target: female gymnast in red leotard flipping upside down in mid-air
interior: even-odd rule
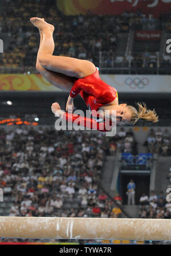
[[[34,17],[30,21],[38,27],[40,33],[36,69],[52,85],[70,91],[66,105],[67,112],[62,111],[58,103],[52,104],[51,109],[56,116],[70,122],[74,122],[79,117],[79,125],[92,128],[92,125],[96,123],[96,128],[104,132],[108,131],[105,128],[107,120],[111,126],[114,125],[112,121],[113,111],[116,111],[115,124],[135,124],[139,119],[145,119],[153,123],[158,121],[154,109],[153,111],[147,110],[145,103],[137,103],[138,111],[127,104],[119,104],[117,90],[100,79],[99,72],[92,62],[52,55],[55,48],[52,36],[54,26],[45,22],[42,18]],[[78,94],[82,96],[91,114],[93,111],[102,111],[104,115],[95,114],[93,116],[92,114],[91,119],[87,122],[88,117],[72,114],[73,100]],[[108,115],[106,115],[106,112],[108,112]]]

